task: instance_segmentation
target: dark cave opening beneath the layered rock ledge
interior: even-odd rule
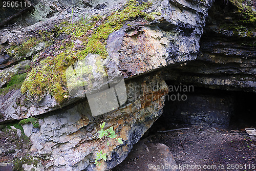
[[[189,125],[225,129],[256,126],[256,93],[194,86],[192,89],[188,84],[177,84],[173,81],[166,83],[169,93],[165,96],[163,114],[148,130],[150,134]]]

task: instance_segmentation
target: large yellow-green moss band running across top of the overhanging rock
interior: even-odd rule
[[[124,5],[122,10],[113,12],[109,16],[93,16],[92,22],[89,24],[82,23],[82,21],[74,24],[62,23],[62,29],[58,32],[71,35],[73,41],[63,40],[62,45],[56,51],[58,54],[54,55],[53,53],[53,56],[40,61],[39,65],[32,69],[22,85],[22,93],[29,92],[35,97],[44,97],[46,93],[50,93],[60,105],[69,95],[66,79],[68,66],[84,59],[89,53],[98,54],[102,59],[105,59],[108,56],[105,48],[106,40],[110,33],[122,28],[126,21],[134,20],[137,17],[153,20],[154,16],[143,11],[150,6],[150,3],[139,5],[136,1],[131,0]],[[77,39],[82,41],[80,48],[74,44]],[[97,71],[101,72],[101,65],[96,62],[96,66]],[[83,74],[88,74],[86,72],[87,70]],[[74,81],[74,87],[89,84],[89,82]],[[38,100],[40,99],[38,98]]]

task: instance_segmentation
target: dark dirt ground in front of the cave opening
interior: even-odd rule
[[[147,143],[162,143],[170,148],[179,170],[256,170],[256,137],[244,129],[220,129],[202,125],[179,125],[189,130],[147,135]],[[176,127],[177,128],[177,127]],[[122,163],[130,170],[145,169],[144,163],[131,152]],[[151,155],[143,160],[153,160]],[[140,169],[141,168],[141,169]],[[143,168],[143,169],[142,169]]]

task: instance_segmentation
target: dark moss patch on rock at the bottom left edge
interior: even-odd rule
[[[29,155],[23,156],[22,158],[17,157],[13,160],[12,169],[14,171],[23,171],[24,170],[24,168],[22,167],[23,164],[37,166],[38,163],[39,163],[38,159],[33,158],[32,156],[29,156]]]

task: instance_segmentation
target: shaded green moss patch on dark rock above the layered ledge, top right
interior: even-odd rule
[[[220,33],[228,33],[234,37],[239,37],[236,42],[240,45],[254,46],[254,37],[256,32],[256,12],[252,10],[251,1],[230,0],[230,3],[223,6],[217,6],[214,8],[219,13],[224,15],[218,15]],[[254,19],[253,19],[254,18]],[[229,32],[226,32],[226,31]]]

